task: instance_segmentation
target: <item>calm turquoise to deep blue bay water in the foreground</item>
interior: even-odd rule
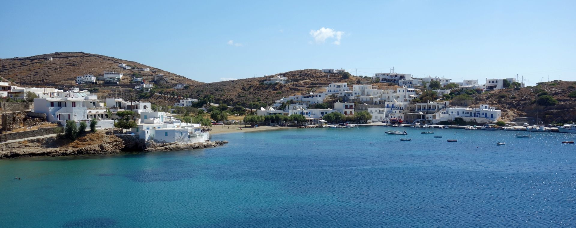
[[[399,129],[408,135],[291,129],[215,135],[230,143],[213,149],[0,160],[0,227],[576,226],[576,145],[560,143],[576,134]]]

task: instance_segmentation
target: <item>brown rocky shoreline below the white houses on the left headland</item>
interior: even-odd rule
[[[228,141],[205,141],[200,143],[157,143],[148,141],[143,146],[127,142],[115,135],[108,135],[104,132],[86,135],[78,138],[74,142],[58,137],[29,139],[21,142],[4,143],[0,145],[0,159],[22,158],[37,156],[71,156],[71,155],[93,155],[93,154],[118,154],[124,152],[156,152],[192,150],[209,147],[217,147],[228,143]]]

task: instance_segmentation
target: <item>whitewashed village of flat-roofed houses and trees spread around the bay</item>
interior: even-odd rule
[[[150,70],[131,68],[123,63],[116,67]],[[190,85],[168,84],[170,87],[167,87],[163,74],[154,74],[150,80],[138,73],[124,75],[113,70],[104,71],[100,76],[76,76],[77,87],[120,85],[123,78],[129,77],[133,87],[128,89],[139,95],[134,100],[110,94],[103,98],[98,94],[101,91],[93,87],[89,90],[21,87],[16,82],[4,80],[0,82],[0,97],[5,101],[0,105],[3,111],[0,141],[16,142],[46,135],[59,135],[74,141],[90,128],[94,132],[106,130],[113,135],[130,135],[131,140],[138,141],[143,148],[150,143],[190,145],[209,142],[211,129],[218,125],[226,130],[232,126],[232,130],[241,131],[259,126],[355,127],[358,124],[468,126],[467,129],[492,130],[524,124],[524,129],[528,130],[526,125],[543,123],[529,117],[503,119],[501,109],[472,97],[498,90],[525,89],[525,83],[517,78],[493,78],[479,83],[477,79],[454,82],[444,77],[415,78],[393,70],[373,77],[355,77],[342,69],[319,71],[327,75],[327,80],[332,78],[338,82],[318,85],[313,92],[294,92],[291,96],[276,92],[278,98],[270,103],[256,100],[244,107],[239,104],[228,106],[222,100],[217,104],[219,99],[213,95],[179,96],[176,91],[186,91]],[[272,91],[275,86],[290,86],[294,78],[287,75],[266,76],[260,85]],[[352,78],[358,78],[357,83],[349,85],[343,81],[354,80]],[[153,96],[156,101],[151,100]],[[506,97],[499,95],[499,99],[503,98]],[[175,102],[162,105],[158,99]],[[540,105],[558,103],[548,93],[536,94],[535,102]]]

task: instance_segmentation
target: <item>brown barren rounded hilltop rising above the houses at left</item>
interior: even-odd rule
[[[127,64],[132,68],[148,68],[150,71],[124,70],[118,67],[119,63]],[[71,86],[75,85],[77,76],[93,74],[98,77],[104,74],[104,70],[112,70],[124,75],[138,73],[146,81],[152,80],[154,74],[164,74],[168,83],[203,84],[203,82],[142,63],[85,52],[54,52],[24,58],[0,59],[0,77],[21,85]],[[123,77],[120,83],[129,82],[130,77]]]

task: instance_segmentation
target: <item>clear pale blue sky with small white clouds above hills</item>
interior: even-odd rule
[[[202,82],[298,69],[576,81],[576,1],[3,1],[0,58],[84,51]]]

